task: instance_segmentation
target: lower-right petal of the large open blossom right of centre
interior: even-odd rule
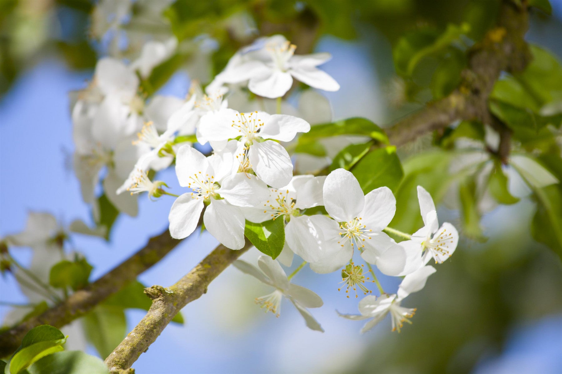
[[[406,251],[385,233],[374,233],[362,242],[365,250],[361,257],[369,264],[377,265],[385,275],[396,276],[406,266]]]

